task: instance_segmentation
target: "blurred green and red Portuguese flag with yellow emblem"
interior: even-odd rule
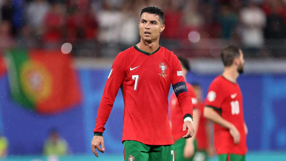
[[[52,114],[80,103],[79,83],[68,54],[10,50],[6,57],[11,94],[22,106]]]

